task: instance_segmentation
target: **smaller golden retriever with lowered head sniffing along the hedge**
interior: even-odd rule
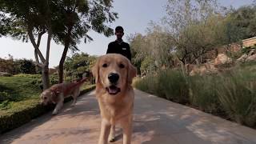
[[[80,86],[83,82],[86,82],[87,78],[83,78],[79,82],[70,82],[70,83],[59,83],[51,86],[49,89],[46,89],[40,95],[41,103],[47,105],[48,103],[56,104],[52,114],[58,114],[63,106],[64,98],[72,95],[73,103],[71,106],[74,106],[77,102],[78,95],[80,94]]]

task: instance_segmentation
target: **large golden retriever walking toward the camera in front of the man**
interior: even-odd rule
[[[114,142],[116,124],[122,127],[123,143],[130,144],[134,109],[131,83],[136,68],[121,54],[106,54],[98,58],[92,72],[102,116],[98,144]]]

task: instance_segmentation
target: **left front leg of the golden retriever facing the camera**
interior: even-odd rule
[[[107,144],[107,138],[110,134],[110,122],[102,118],[101,134],[99,136],[98,144]]]

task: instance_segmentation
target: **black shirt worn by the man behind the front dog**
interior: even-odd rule
[[[110,42],[106,54],[122,54],[131,61],[130,46],[126,42],[121,42],[120,44],[118,41]]]

